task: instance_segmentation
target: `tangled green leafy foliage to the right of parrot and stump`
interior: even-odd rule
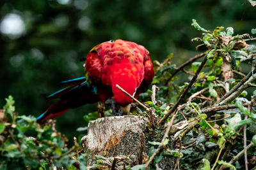
[[[243,160],[236,159],[236,164],[230,161],[237,153],[241,152],[242,155],[244,153],[242,151],[244,145],[240,142],[240,139],[244,138],[241,131],[244,125],[247,125],[246,129],[249,130],[246,131],[247,141],[255,142],[256,104],[253,98],[251,101],[248,100],[251,99],[248,94],[252,94],[252,92],[247,92],[248,87],[255,87],[255,77],[253,78],[256,76],[254,64],[256,55],[253,50],[255,45],[247,44],[248,39],[251,38],[249,34],[234,36],[232,27],[227,29],[216,27],[214,31],[209,31],[201,27],[196,20],[193,20],[191,25],[202,32],[202,38],[194,38],[192,42],[202,42],[196,46],[196,50],[202,48],[201,46],[207,47],[205,55],[207,62],[193,83],[193,87],[186,94],[188,97],[182,99],[183,104],[180,103],[180,109],[175,118],[176,123],[180,121],[185,123],[186,120],[179,114],[183,113],[189,120],[195,118],[200,120],[197,124],[192,125],[191,131],[188,131],[185,136],[180,135],[189,125],[173,134],[176,140],[182,138],[181,153],[183,154],[178,155],[179,166],[181,169],[220,169],[222,165],[230,169],[244,169]],[[157,70],[154,83],[160,88],[157,92],[159,101],[155,106],[152,106],[151,103],[148,104],[155,108],[156,113],[160,108],[161,110],[170,110],[167,108],[167,106],[172,108],[173,104],[170,103],[170,100],[175,103],[189,84],[186,81],[181,86],[175,84],[178,77],[173,74],[177,73],[179,67],[172,64],[172,57],[173,54],[161,64],[154,62]],[[189,71],[184,68],[179,70],[188,74],[188,80],[195,76],[196,70],[202,62],[195,61],[190,64]],[[239,86],[239,82],[245,76],[240,74],[244,69],[243,66],[250,67],[249,71],[252,76]],[[246,86],[247,83],[248,86]],[[236,85],[239,87],[238,90],[234,90],[233,94],[228,93],[234,87],[236,88]],[[200,93],[198,94],[198,92]],[[253,94],[255,92],[256,90]],[[191,103],[192,101],[193,103]],[[213,109],[218,106],[229,106],[227,104],[233,104],[232,108],[222,108],[218,111]],[[211,112],[204,113],[205,109],[211,108]],[[161,118],[164,114],[157,115]],[[151,143],[161,145],[161,143]],[[246,143],[246,145],[248,144]],[[179,148],[179,146],[176,147]],[[164,152],[166,151],[163,150],[159,154]],[[221,156],[217,158],[218,153]],[[255,157],[255,148],[250,148],[248,159],[253,159],[253,157]],[[216,164],[217,162],[218,164]],[[154,164],[153,162],[151,166],[154,167]],[[249,163],[249,169],[252,167],[253,163]]]

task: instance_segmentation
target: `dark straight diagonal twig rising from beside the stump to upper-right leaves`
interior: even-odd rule
[[[157,124],[163,124],[163,122],[177,109],[177,107],[179,106],[180,102],[186,97],[188,91],[191,89],[191,87],[193,86],[193,83],[196,81],[196,78],[198,77],[198,74],[200,73],[200,71],[202,70],[202,68],[204,67],[205,63],[207,61],[207,55],[205,55],[204,60],[202,60],[200,66],[198,67],[198,69],[196,70],[195,76],[193,76],[193,78],[191,79],[191,81],[189,82],[189,85],[186,87],[186,89],[182,92],[182,94],[180,95],[177,103],[172,107],[172,109],[170,111],[168,111],[168,113],[166,115],[164,115],[163,118],[161,118],[161,120],[159,122],[157,122]]]

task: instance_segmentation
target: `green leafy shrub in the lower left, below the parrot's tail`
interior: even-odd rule
[[[14,103],[9,96],[0,112],[0,169],[72,168],[78,147],[68,149],[67,139],[55,130],[53,122],[41,127],[33,116],[19,116]],[[84,165],[83,157],[80,160]]]

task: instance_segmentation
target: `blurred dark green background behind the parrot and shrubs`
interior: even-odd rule
[[[256,28],[256,7],[246,0],[8,0],[0,2],[0,106],[12,95],[16,111],[40,113],[53,103],[44,96],[62,88],[59,81],[84,76],[89,50],[110,39],[145,46],[152,60],[174,53],[179,65],[196,55],[191,38],[200,32],[191,26],[234,27],[235,34]],[[201,49],[204,50],[204,49]],[[83,115],[96,104],[57,118],[57,129],[68,138],[83,127]],[[82,132],[83,133],[83,132]]]

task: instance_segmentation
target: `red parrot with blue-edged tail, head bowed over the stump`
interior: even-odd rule
[[[129,113],[134,101],[116,85],[135,98],[145,92],[154,77],[148,54],[144,46],[121,39],[95,46],[86,57],[85,77],[62,81],[71,85],[47,96],[48,99],[60,100],[40,115],[37,122],[44,123],[83,104],[97,101],[104,103],[110,97],[114,97],[125,114]]]

